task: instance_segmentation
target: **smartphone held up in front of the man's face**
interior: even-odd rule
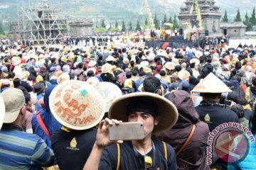
[[[120,123],[110,125],[110,140],[142,140],[144,138],[143,123]]]

